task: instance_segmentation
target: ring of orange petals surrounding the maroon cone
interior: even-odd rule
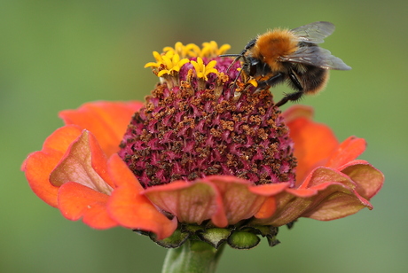
[[[115,153],[119,148],[114,149],[141,105],[98,102],[62,112],[67,125],[49,136],[43,150],[30,154],[23,166],[35,194],[59,207],[69,220],[83,217],[96,229],[122,225],[166,238],[177,223],[155,206],[176,215],[179,222],[211,219],[225,227],[255,215],[256,222],[280,226],[302,216],[333,220],[371,209],[368,200],[383,183],[380,171],[354,160],[365,150],[364,139],[349,137],[338,144],[330,129],[310,120],[310,109],[293,106],[284,115],[299,161],[298,186],[253,185],[234,176],[213,175],[144,190]]]

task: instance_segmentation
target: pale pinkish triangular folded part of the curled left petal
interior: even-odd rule
[[[80,183],[109,195],[112,186],[98,175],[94,166],[99,173],[107,176],[105,154],[100,150],[95,137],[89,131],[83,130],[81,136],[68,147],[58,166],[52,170],[50,182],[57,187],[67,182]]]

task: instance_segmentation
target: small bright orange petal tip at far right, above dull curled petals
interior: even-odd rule
[[[365,151],[365,139],[349,136],[343,141],[327,160],[325,166],[330,168],[339,168],[357,157]]]

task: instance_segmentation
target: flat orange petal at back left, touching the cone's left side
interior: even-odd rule
[[[66,124],[76,124],[90,130],[98,139],[107,156],[119,151],[119,144],[129,121],[143,106],[140,102],[97,102],[82,105],[77,110],[66,110],[59,117]]]

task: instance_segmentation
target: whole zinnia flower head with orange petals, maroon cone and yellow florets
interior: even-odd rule
[[[300,217],[355,214],[384,177],[365,140],[339,143],[310,107],[281,113],[270,90],[237,81],[239,64],[215,42],[154,52],[161,82],[142,102],[94,102],[62,111],[25,160],[35,194],[69,220],[122,226],[161,246],[187,239],[250,248]]]

